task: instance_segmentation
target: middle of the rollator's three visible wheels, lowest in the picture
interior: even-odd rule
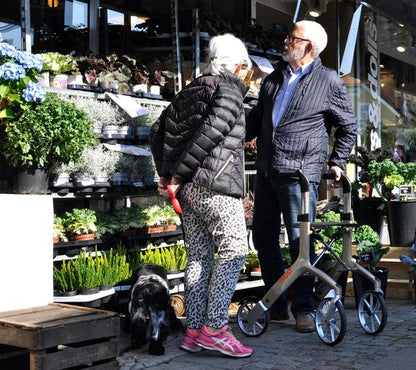
[[[317,307],[315,326],[319,338],[328,345],[342,341],[347,331],[347,316],[340,300],[331,309],[331,298],[325,298]]]

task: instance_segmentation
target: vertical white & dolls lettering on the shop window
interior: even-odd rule
[[[370,20],[367,35],[368,82],[372,100],[368,106],[368,121],[371,129],[371,150],[381,147],[380,73],[377,44],[377,25]]]

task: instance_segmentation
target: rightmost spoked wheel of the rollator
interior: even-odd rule
[[[365,292],[358,303],[357,312],[360,325],[368,334],[377,335],[386,326],[386,301],[379,292]]]

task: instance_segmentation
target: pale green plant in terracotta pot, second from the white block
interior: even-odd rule
[[[97,216],[95,211],[88,208],[74,208],[65,212],[62,223],[72,240],[92,240],[97,231]]]

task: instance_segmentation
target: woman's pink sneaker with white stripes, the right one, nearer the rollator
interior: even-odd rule
[[[251,348],[244,347],[234,337],[228,325],[223,326],[217,334],[210,333],[206,326],[203,326],[195,343],[202,348],[218,351],[231,357],[249,357],[253,353]]]

